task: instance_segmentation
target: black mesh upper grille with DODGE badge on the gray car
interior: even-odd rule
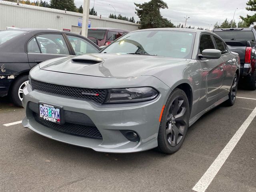
[[[76,98],[81,100],[92,100],[99,104],[102,104],[106,97],[106,89],[87,89],[87,88],[79,88],[79,87],[70,87],[70,86],[40,82],[34,79],[31,80],[31,84],[32,84],[32,90],[38,90],[46,93],[69,97],[69,98]],[[94,96],[90,94],[98,94],[98,96]]]

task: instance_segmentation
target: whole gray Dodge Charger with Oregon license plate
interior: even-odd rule
[[[212,32],[130,32],[98,54],[35,66],[23,91],[22,124],[99,152],[157,147],[172,154],[204,113],[234,104],[239,69],[238,54]]]

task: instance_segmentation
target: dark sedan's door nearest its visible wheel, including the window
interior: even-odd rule
[[[27,54],[32,68],[40,62],[72,53],[62,34],[38,34],[28,42]]]

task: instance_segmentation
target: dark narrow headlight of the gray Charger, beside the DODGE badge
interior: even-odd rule
[[[158,91],[152,87],[109,89],[104,103],[143,102],[153,100],[158,94]]]

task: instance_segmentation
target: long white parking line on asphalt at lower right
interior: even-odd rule
[[[228,156],[232,152],[232,150],[235,148],[236,144],[256,116],[256,108],[252,111],[252,113],[248,116],[248,118],[245,120],[245,122],[242,124],[242,126],[237,130],[236,134],[231,138],[231,140],[228,142],[228,144],[224,147],[222,152],[218,155],[218,157],[214,160],[212,165],[208,168],[208,170],[205,172],[205,174],[201,177],[201,179],[196,183],[196,185],[193,187],[192,190],[197,192],[205,192],[205,190],[208,188],[224,162],[227,160]]]

